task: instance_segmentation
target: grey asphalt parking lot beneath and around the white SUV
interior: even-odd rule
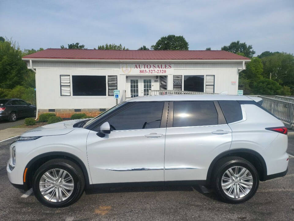
[[[6,164],[14,139],[0,143],[0,220],[294,220],[293,157],[286,176],[260,182],[243,204],[222,203],[201,186],[132,187],[86,191],[75,204],[55,209],[9,183]],[[288,153],[293,152],[289,135]]]

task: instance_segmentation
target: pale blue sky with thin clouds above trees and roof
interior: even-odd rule
[[[220,50],[232,41],[294,53],[294,0],[17,1],[0,0],[0,36],[21,49],[79,42],[136,50],[160,37],[182,35],[189,50]]]

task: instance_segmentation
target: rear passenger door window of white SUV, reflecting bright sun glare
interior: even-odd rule
[[[213,101],[174,102],[174,127],[217,125],[217,119]]]

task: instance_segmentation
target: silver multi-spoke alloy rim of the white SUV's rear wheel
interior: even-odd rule
[[[234,166],[224,172],[221,178],[221,187],[224,193],[232,198],[246,196],[253,186],[253,177],[250,171],[241,166]]]

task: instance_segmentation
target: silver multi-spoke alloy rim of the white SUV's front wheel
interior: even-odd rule
[[[68,199],[73,193],[74,180],[63,169],[51,169],[41,177],[39,189],[45,199],[51,202],[61,202]]]

